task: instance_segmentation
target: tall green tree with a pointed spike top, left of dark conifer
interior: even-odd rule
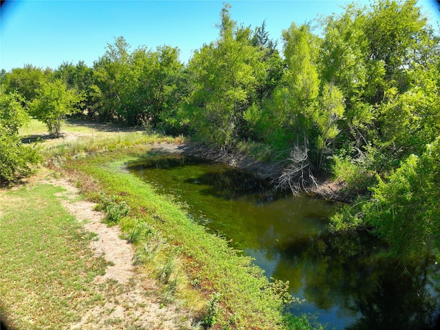
[[[244,113],[254,104],[266,71],[264,52],[251,42],[250,28],[237,26],[230,6],[221,10],[219,39],[195,52],[189,63],[193,90],[187,99],[190,128],[219,147],[233,147],[246,132]]]

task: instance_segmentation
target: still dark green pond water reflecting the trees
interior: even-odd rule
[[[148,154],[126,168],[255,258],[267,277],[289,280],[300,305],[329,329],[434,329],[440,269],[432,258],[402,264],[368,233],[331,234],[338,205],[272,191],[249,172],[184,155]]]

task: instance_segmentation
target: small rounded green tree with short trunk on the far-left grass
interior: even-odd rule
[[[83,96],[75,90],[67,89],[63,81],[56,79],[44,83],[30,104],[30,114],[46,124],[49,134],[60,136],[63,119],[78,111],[78,103]]]

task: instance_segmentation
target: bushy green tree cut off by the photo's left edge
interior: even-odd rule
[[[28,121],[20,96],[0,90],[0,187],[27,176],[41,160],[37,149],[20,141],[19,127]]]

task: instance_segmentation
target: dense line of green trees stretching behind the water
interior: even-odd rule
[[[429,205],[419,213],[430,215],[421,220],[390,198],[405,192],[406,199],[396,201],[404,207],[421,194],[437,194],[428,187],[439,187],[439,35],[415,0],[351,4],[315,23],[320,36],[310,24],[283,30],[280,54],[264,22],[239,25],[225,4],[219,37],[188,65],[179,61],[178,48],[131,51],[118,37],[92,68],[79,62],[54,71],[28,65],[2,72],[1,92],[18,93],[23,107],[50,122],[54,134],[61,118],[77,112],[284,161],[281,188],[302,189],[314,175],[331,174],[347,194],[365,198],[357,203],[362,210],[351,207],[333,219],[336,228],[380,227],[377,217],[384,216],[369,214],[382,210],[390,223],[411,216],[419,226],[425,221],[429,228],[413,243],[426,245],[439,226],[438,203],[423,198]],[[401,183],[406,190],[393,186],[397,176],[428,164],[437,172]],[[375,187],[373,198],[369,187]],[[412,229],[389,229],[399,230]],[[379,234],[391,240],[389,231]]]

